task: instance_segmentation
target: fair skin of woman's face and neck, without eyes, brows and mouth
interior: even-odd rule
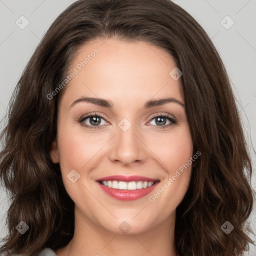
[[[180,79],[169,72],[176,66],[168,52],[143,41],[97,39],[83,45],[70,65],[99,52],[69,81],[58,105],[57,139],[51,159],[59,162],[64,186],[75,203],[72,240],[55,251],[66,255],[176,255],[173,250],[175,209],[190,181],[191,166],[155,201],[153,195],[192,156],[193,144],[185,108],[176,102],[143,108],[150,99],[173,97],[184,104]],[[111,101],[113,107],[79,102],[81,96]],[[99,129],[82,126],[86,114],[100,114]],[[166,128],[154,114],[168,114]],[[118,123],[131,126],[123,131]],[[90,118],[83,121],[93,126]],[[127,124],[125,124],[127,125]],[[80,178],[72,183],[67,174],[75,169]],[[141,175],[160,182],[148,195],[120,201],[103,192],[95,179],[108,175]],[[126,221],[130,230],[120,231]]]

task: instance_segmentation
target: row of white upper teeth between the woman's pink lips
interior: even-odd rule
[[[116,180],[103,180],[100,181],[101,184],[111,187],[111,188],[117,188],[117,189],[127,189],[127,190],[135,190],[135,189],[141,189],[151,186],[154,182],[153,181],[116,181]]]

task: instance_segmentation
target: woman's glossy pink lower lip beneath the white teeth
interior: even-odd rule
[[[134,189],[134,190],[111,188],[111,187],[102,185],[100,182],[97,182],[97,183],[105,193],[112,196],[113,198],[118,200],[129,201],[129,200],[136,200],[138,198],[141,198],[149,194],[155,188],[155,186],[159,183],[159,181],[156,181],[153,185],[149,187]]]

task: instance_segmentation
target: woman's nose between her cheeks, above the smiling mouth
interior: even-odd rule
[[[120,126],[121,127],[121,126]],[[122,165],[138,164],[146,158],[146,145],[141,133],[131,125],[128,130],[116,127],[117,134],[111,141],[109,158]]]

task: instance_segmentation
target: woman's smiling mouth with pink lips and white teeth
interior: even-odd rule
[[[153,178],[123,175],[102,177],[96,181],[106,194],[118,200],[141,198],[150,193],[159,183],[159,180]]]

